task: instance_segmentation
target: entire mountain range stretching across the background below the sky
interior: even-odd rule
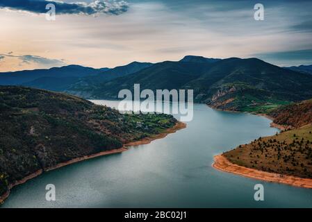
[[[113,69],[67,66],[0,74],[0,85],[26,85],[87,99],[117,99],[121,89],[193,89],[197,103],[221,110],[267,112],[312,98],[309,66],[278,67],[257,58],[186,56],[155,64],[131,62]],[[75,71],[76,70],[76,71]],[[10,76],[11,75],[11,76]]]

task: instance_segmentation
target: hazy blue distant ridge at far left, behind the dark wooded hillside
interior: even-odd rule
[[[75,91],[113,78],[133,74],[151,66],[149,62],[131,62],[113,69],[93,69],[79,65],[0,73],[0,85],[23,85],[58,92]],[[76,93],[78,94],[78,93]]]

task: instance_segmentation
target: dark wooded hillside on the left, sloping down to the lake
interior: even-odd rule
[[[38,170],[163,133],[165,114],[120,114],[75,96],[0,87],[0,196]]]

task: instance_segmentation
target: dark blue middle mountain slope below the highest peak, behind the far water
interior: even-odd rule
[[[160,62],[146,69],[106,81],[90,85],[86,89],[91,98],[117,99],[121,89],[133,89],[140,83],[142,89],[180,89],[183,85],[198,78],[211,66],[211,63],[195,62]]]

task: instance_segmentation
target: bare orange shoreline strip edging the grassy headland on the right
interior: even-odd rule
[[[265,171],[259,171],[256,169],[250,169],[247,167],[241,167],[237,164],[233,164],[227,160],[223,155],[216,155],[214,158],[213,168],[224,171],[227,173],[234,173],[239,176],[245,176],[247,178],[253,178],[256,180],[265,180],[267,182],[278,182],[285,185],[291,185],[294,187],[303,187],[312,189],[312,179],[298,178],[295,176],[288,176],[279,173],[269,173]]]

